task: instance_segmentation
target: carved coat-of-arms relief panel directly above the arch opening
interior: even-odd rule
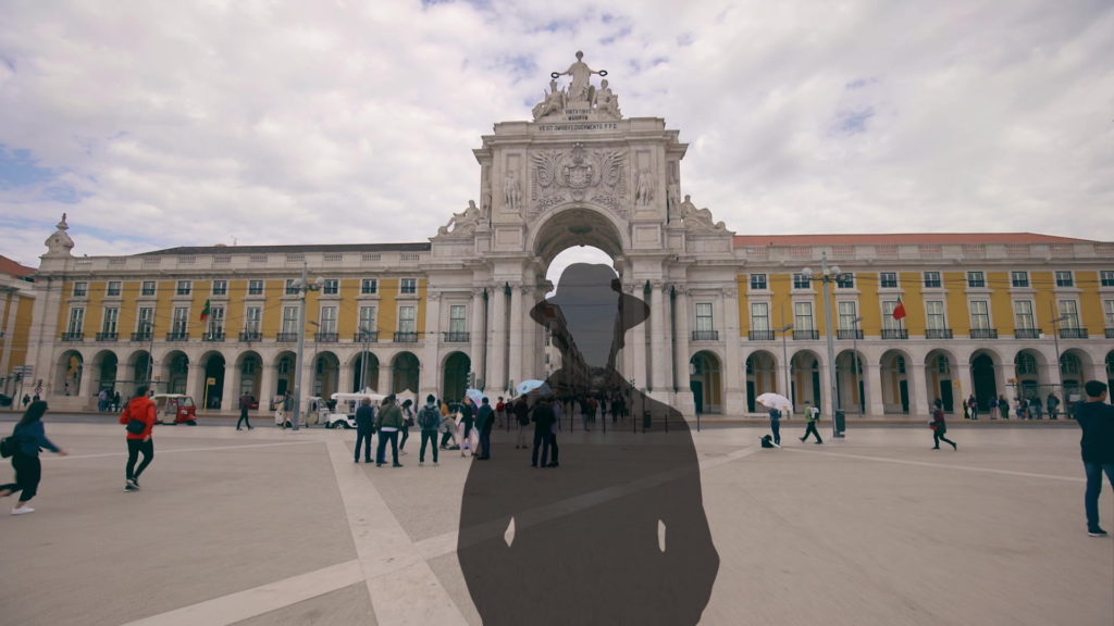
[[[626,153],[582,144],[571,150],[543,150],[532,156],[532,214],[568,200],[592,202],[622,214],[626,196]]]

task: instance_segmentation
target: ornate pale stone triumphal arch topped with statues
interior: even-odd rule
[[[472,371],[488,390],[544,379],[551,370],[546,333],[529,311],[551,288],[546,270],[559,253],[595,246],[613,258],[623,290],[651,307],[628,331],[619,370],[692,414],[690,296],[707,288],[733,300],[724,292],[736,288],[734,233],[682,196],[687,145],[678,131],[662,118],[624,117],[605,76],[577,52],[567,70],[551,74],[532,120],[499,123],[483,136],[473,150],[479,205],[469,203],[431,239],[430,316],[440,319],[432,311],[439,292],[476,285],[473,302],[486,314],[471,320]],[[729,351],[735,343],[726,342]]]

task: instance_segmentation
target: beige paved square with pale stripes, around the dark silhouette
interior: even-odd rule
[[[52,418],[71,456],[43,454],[33,515],[0,516],[4,623],[479,624],[455,555],[459,452],[420,468],[414,434],[405,467],[377,469],[352,462],[352,431],[160,427],[125,493],[123,427]],[[927,428],[849,429],[815,446],[783,422],[780,450],[753,424],[693,433],[721,559],[702,624],[1114,624],[1077,428],[958,423],[955,452]],[[563,466],[638,438],[566,432]],[[495,454],[531,471],[512,446],[497,433]],[[1101,512],[1114,529],[1108,485]]]

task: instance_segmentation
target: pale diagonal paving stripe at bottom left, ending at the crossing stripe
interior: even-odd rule
[[[153,615],[124,626],[228,626],[363,580],[353,559],[219,598]]]

